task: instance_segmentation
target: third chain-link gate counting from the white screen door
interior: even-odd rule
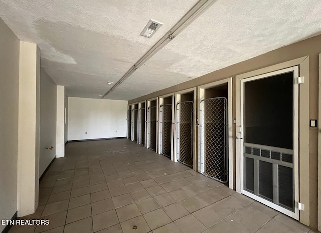
[[[171,157],[172,149],[172,104],[161,105],[161,154]]]

